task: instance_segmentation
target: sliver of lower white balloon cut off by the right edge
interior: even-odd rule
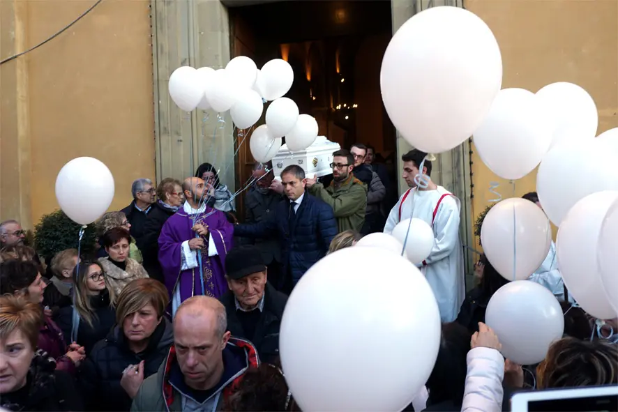
[[[618,201],[610,206],[598,237],[598,265],[605,296],[618,313]]]

